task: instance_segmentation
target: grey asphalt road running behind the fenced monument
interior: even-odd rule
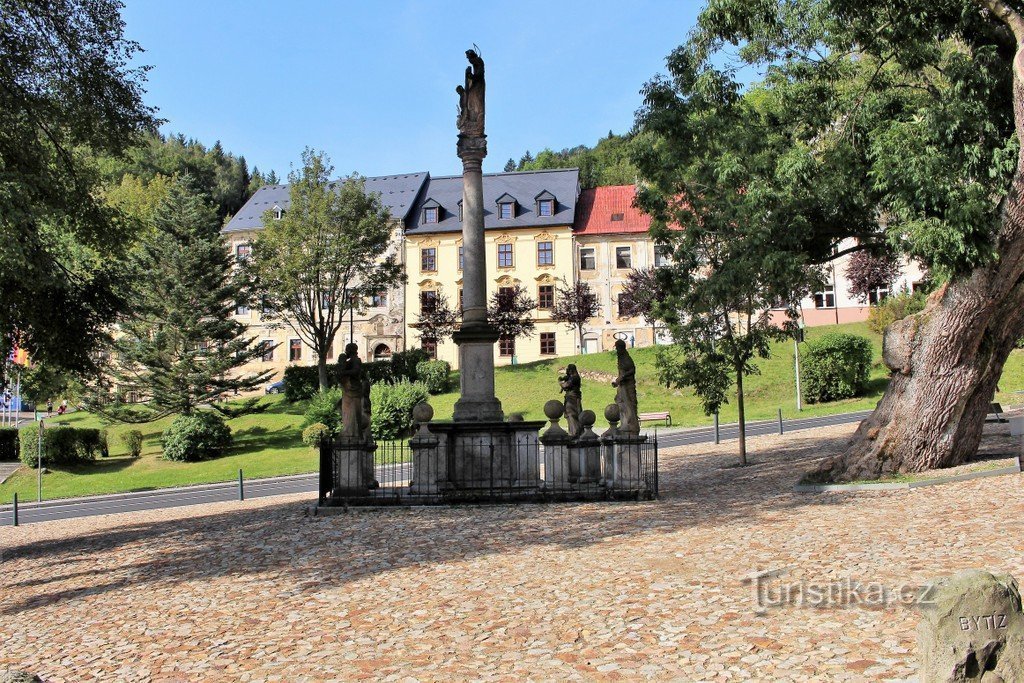
[[[829,427],[833,425],[860,422],[868,415],[870,415],[870,411],[844,413],[818,418],[797,418],[794,420],[784,420],[782,428],[783,431],[788,432],[800,429],[814,429],[815,427]],[[653,433],[653,429],[645,430],[646,433]],[[746,425],[748,436],[775,433],[778,433],[778,422],[776,420],[751,422]],[[734,439],[737,436],[738,430],[735,424],[721,426],[720,437],[723,441]],[[663,449],[688,443],[707,443],[714,440],[714,427],[660,432],[657,435],[658,446]],[[406,469],[406,467],[401,469]],[[404,472],[385,473],[383,468],[378,468],[378,479],[381,481],[393,480],[395,478],[404,479],[408,478],[408,474]],[[249,499],[288,494],[309,494],[310,497],[314,497],[316,495],[316,474],[251,479],[247,480],[244,484],[245,497]],[[89,515],[105,515],[137,510],[158,510],[160,508],[174,508],[184,505],[202,505],[203,503],[222,503],[225,501],[237,501],[238,499],[239,484],[237,481],[231,481],[201,486],[137,492],[133,494],[44,501],[43,503],[22,502],[18,505],[18,523],[29,524],[32,522],[71,519]],[[10,525],[12,523],[12,506],[0,506],[0,525]]]

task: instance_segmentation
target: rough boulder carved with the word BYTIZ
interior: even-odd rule
[[[964,571],[922,595],[922,683],[1024,681],[1024,611],[1010,574]]]

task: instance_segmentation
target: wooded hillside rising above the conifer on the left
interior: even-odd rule
[[[135,215],[145,215],[175,175],[189,175],[223,219],[233,215],[261,185],[278,182],[270,171],[249,170],[246,158],[225,152],[220,142],[207,147],[184,135],[147,135],[124,159],[98,160],[109,200]]]

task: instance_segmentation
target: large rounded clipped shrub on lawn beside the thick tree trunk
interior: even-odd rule
[[[857,335],[828,333],[808,344],[801,365],[808,403],[852,398],[867,388],[871,342]]]

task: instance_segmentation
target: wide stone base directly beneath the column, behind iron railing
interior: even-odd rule
[[[540,485],[543,422],[438,422],[430,432],[442,441],[442,488],[494,492]]]

